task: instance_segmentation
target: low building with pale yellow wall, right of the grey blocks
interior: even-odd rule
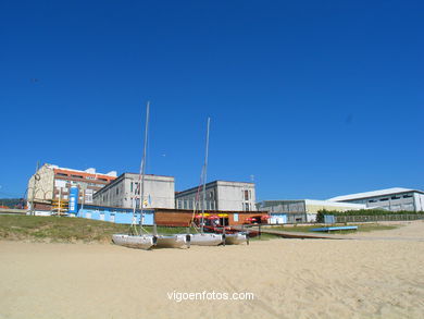
[[[364,204],[334,203],[329,200],[295,199],[264,200],[258,204],[260,210],[267,211],[270,224],[314,222],[319,210],[359,210]]]

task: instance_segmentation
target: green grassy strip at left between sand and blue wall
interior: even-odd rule
[[[146,226],[152,231],[151,226]],[[39,242],[102,242],[112,234],[126,233],[129,226],[111,222],[68,217],[0,216],[0,240]],[[185,228],[158,228],[158,233],[184,233]]]

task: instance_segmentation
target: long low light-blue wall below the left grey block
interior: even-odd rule
[[[140,222],[140,210],[136,211],[137,223]],[[114,208],[85,205],[84,208],[78,206],[78,213],[76,217],[103,220],[114,222],[119,224],[130,224],[133,221],[133,209],[129,208]],[[153,225],[154,223],[154,210],[145,209],[145,225]]]

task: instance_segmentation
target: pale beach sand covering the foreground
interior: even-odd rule
[[[357,236],[152,251],[2,241],[0,318],[423,318],[424,222]],[[167,296],[203,291],[254,299]]]

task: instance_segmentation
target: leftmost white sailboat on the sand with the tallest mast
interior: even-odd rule
[[[136,219],[136,199],[137,196],[135,196],[133,201],[133,221],[129,229],[128,234],[113,234],[112,241],[114,244],[120,246],[125,246],[129,248],[138,248],[138,249],[150,249],[152,246],[157,244],[157,236],[148,234],[144,228],[144,221],[145,221],[145,212],[144,212],[144,196],[145,196],[145,171],[146,171],[146,148],[147,148],[147,133],[148,133],[148,126],[149,126],[149,108],[150,102],[147,102],[146,106],[146,128],[145,128],[145,147],[141,158],[141,164],[140,164],[140,175],[139,179],[139,187],[138,187],[138,197],[140,198],[140,207],[141,207],[141,216],[140,216],[140,230],[138,232],[137,230],[137,219]],[[140,187],[141,185],[141,187]]]

